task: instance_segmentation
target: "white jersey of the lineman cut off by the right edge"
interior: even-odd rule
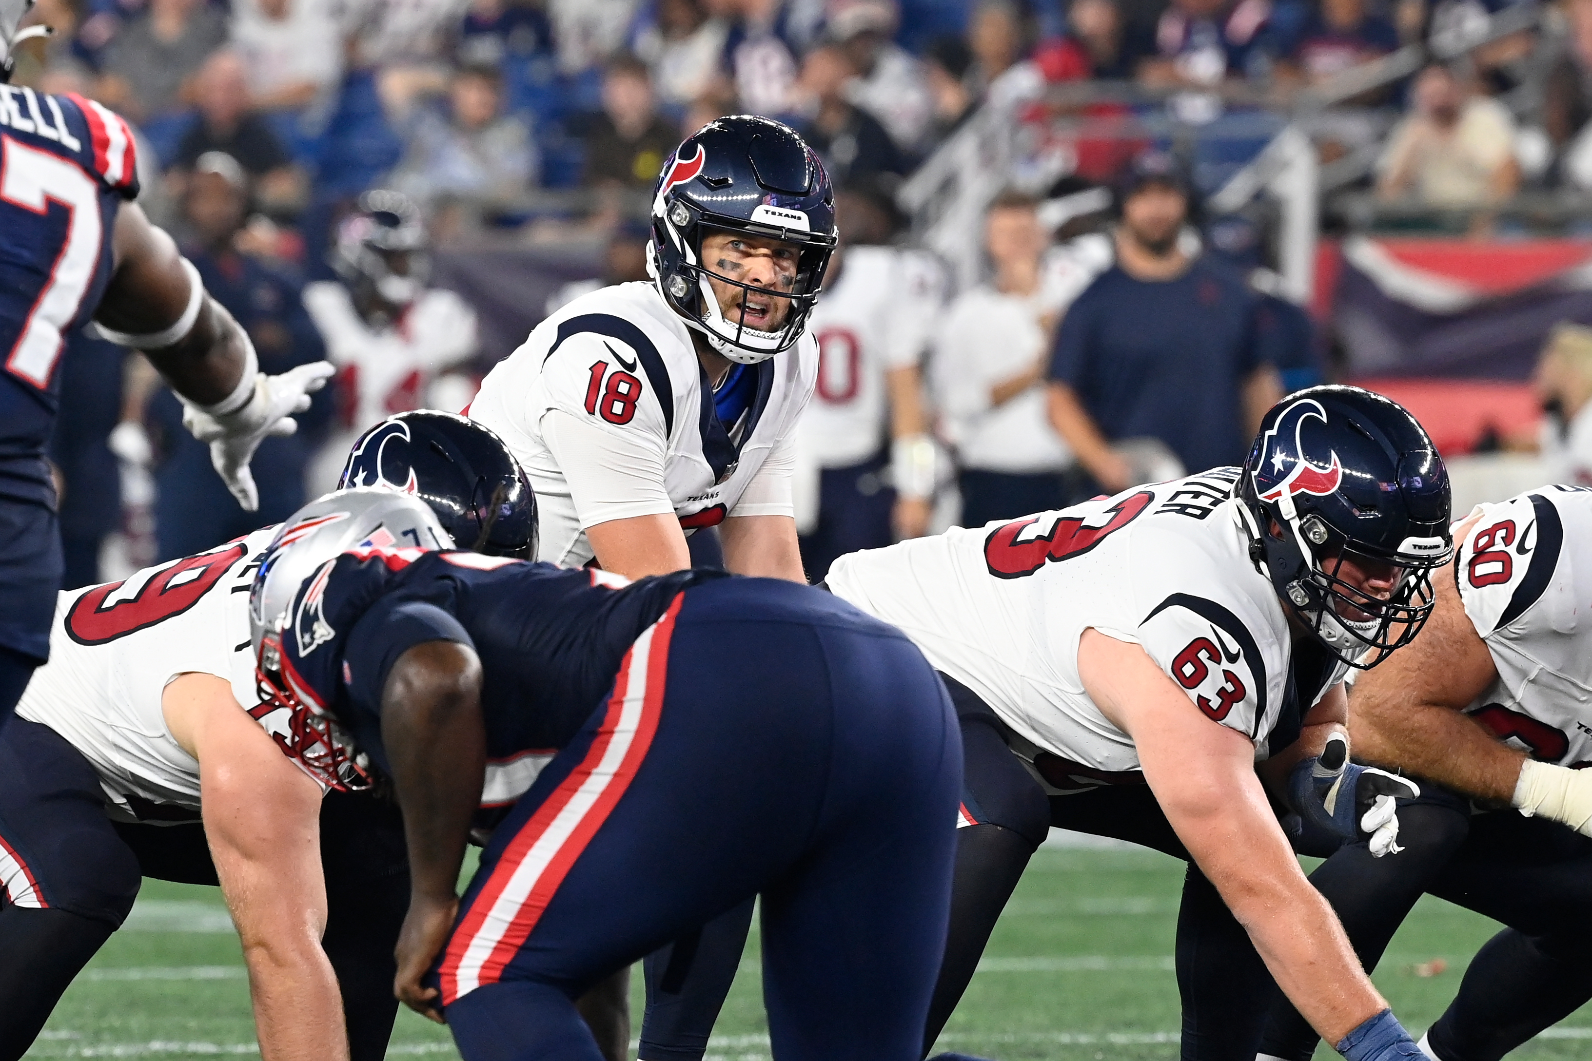
[[[1592,767],[1592,490],[1541,487],[1481,512],[1455,581],[1498,679],[1466,713],[1543,762]]]

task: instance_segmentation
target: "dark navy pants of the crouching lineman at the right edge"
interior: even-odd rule
[[[1442,1061],[1496,1061],[1592,997],[1592,838],[1516,811],[1471,816],[1425,784],[1399,808],[1398,856],[1345,845],[1310,881],[1337,910],[1364,967],[1423,892],[1509,926],[1476,954],[1431,1026]],[[1264,1051],[1305,1061],[1317,1036],[1274,989]]]

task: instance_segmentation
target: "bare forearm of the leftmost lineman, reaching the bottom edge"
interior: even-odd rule
[[[349,1056],[338,977],[317,940],[264,937],[244,948],[263,1061]]]

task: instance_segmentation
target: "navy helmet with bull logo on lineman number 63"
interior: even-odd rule
[[[1449,471],[1396,402],[1358,387],[1290,394],[1261,422],[1237,485],[1262,565],[1285,606],[1334,655],[1369,670],[1407,644],[1449,562]],[[1352,563],[1391,585],[1340,577]]]

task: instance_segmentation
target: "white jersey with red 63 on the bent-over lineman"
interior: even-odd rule
[[[899,627],[936,670],[977,694],[1022,740],[1054,792],[1138,771],[1132,738],[1078,678],[1086,628],[1143,646],[1208,717],[1264,759],[1301,711],[1342,681],[1290,690],[1288,620],[1248,555],[1218,468],[984,528],[952,528],[836,560],[831,590]],[[1288,741],[1293,736],[1286,738]],[[1105,775],[1102,778],[1102,775]]]

